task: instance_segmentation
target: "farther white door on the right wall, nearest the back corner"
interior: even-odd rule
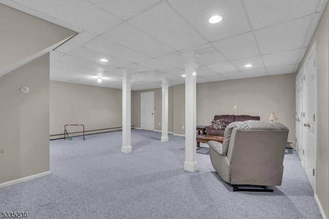
[[[303,153],[303,89],[304,89],[304,68],[301,68],[296,77],[296,150],[304,167]]]

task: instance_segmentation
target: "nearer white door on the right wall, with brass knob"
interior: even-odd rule
[[[316,44],[309,52],[304,65],[304,169],[313,190],[315,189],[315,135],[316,135]]]

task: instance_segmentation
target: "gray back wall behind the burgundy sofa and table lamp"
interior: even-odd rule
[[[274,112],[295,143],[295,74],[246,78],[196,85],[196,123],[210,125],[214,115],[260,116]],[[234,105],[237,106],[234,109]],[[185,86],[174,87],[174,133],[185,134]]]

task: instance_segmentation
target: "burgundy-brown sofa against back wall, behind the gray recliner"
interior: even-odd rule
[[[235,115],[220,115],[214,116],[214,120],[224,119],[225,126],[228,126],[231,122],[243,122],[247,120],[260,120],[259,116],[235,116]],[[214,130],[212,125],[206,127],[206,135],[224,136],[225,130]]]

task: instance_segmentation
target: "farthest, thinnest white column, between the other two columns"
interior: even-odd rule
[[[161,119],[161,141],[168,139],[168,86],[169,80],[162,79],[162,119]]]

